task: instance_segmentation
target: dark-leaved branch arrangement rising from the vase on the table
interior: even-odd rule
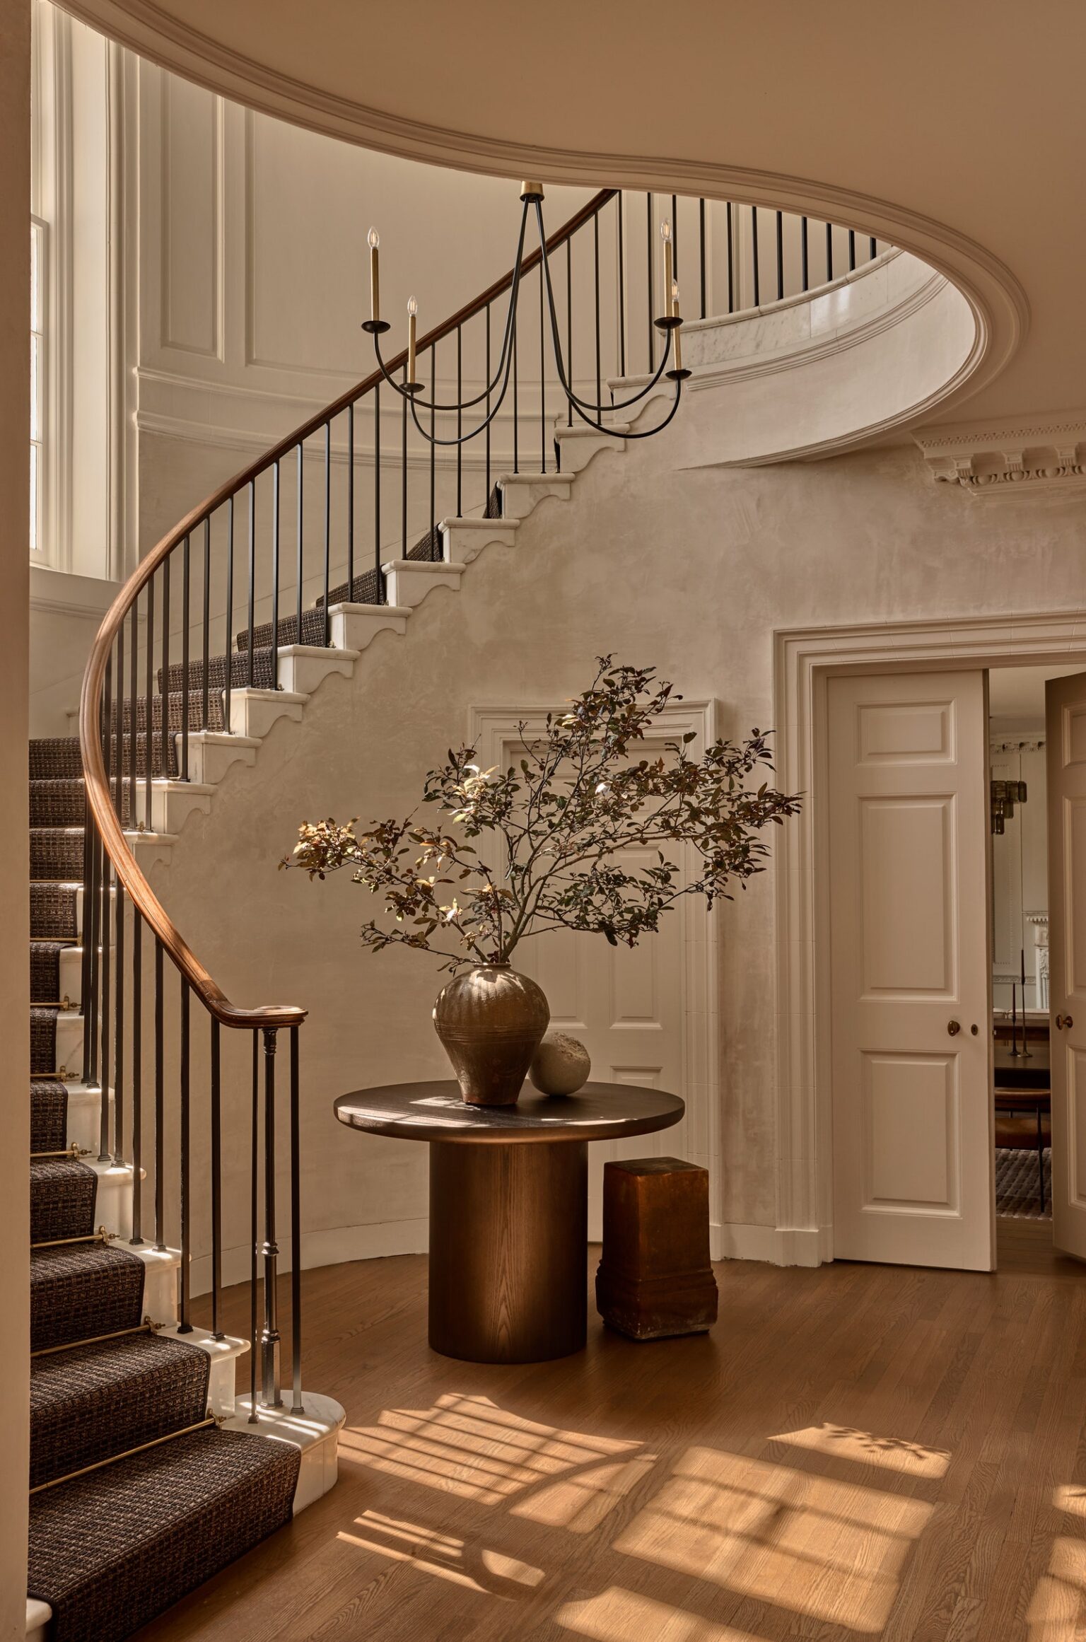
[[[590,929],[611,946],[636,946],[680,897],[703,895],[711,906],[731,898],[733,880],[746,887],[769,854],[761,828],[800,808],[767,783],[748,788],[759,765],[772,767],[757,729],[739,744],[715,742],[697,760],[687,750],[693,732],[669,742],[667,757],[631,754],[670,699],[682,698],[654,668],[600,657],[590,688],[568,713],[547,714],[542,736],[529,739],[519,726],[518,765],[480,770],[473,747],[449,750],[422,791],[437,824],[417,811],[365,832],[355,832],[357,821],[306,821],[294,857],[279,865],[311,878],[352,867],[353,882],[380,895],[393,920],[365,923],[363,946],[435,952],[442,969],[504,964],[522,939],[547,929]],[[683,844],[698,857],[687,882],[669,859]],[[626,865],[631,851],[656,859]]]

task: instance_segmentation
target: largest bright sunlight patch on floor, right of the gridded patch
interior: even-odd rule
[[[853,1631],[879,1632],[932,1506],[688,1448],[613,1550]]]

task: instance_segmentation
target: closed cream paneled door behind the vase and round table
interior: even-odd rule
[[[628,870],[652,865],[656,851],[626,851]],[[547,993],[550,1030],[580,1038],[591,1077],[683,1094],[683,920],[685,903],[664,913],[657,934],[636,947],[608,946],[603,936],[557,929],[527,939],[513,954]],[[662,1135],[634,1135],[588,1148],[588,1236],[601,1227],[603,1164],[610,1158],[685,1156],[685,1120]]]

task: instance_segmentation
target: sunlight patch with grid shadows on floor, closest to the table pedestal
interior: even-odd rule
[[[386,1409],[376,1425],[340,1433],[345,1460],[490,1506],[573,1466],[639,1447],[539,1425],[490,1397],[455,1392],[430,1409]]]

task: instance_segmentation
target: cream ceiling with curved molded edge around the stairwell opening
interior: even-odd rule
[[[966,289],[1002,371],[940,420],[969,394],[969,420],[1086,401],[1083,0],[62,3],[227,95],[406,158],[876,228]]]

